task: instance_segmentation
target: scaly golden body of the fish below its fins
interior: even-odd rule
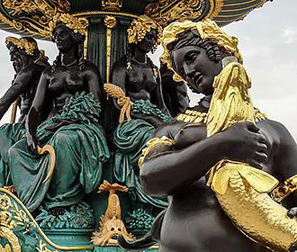
[[[288,251],[297,240],[297,221],[267,193],[257,193],[237,171],[230,174],[227,192],[216,196],[238,229],[256,242],[273,251]]]

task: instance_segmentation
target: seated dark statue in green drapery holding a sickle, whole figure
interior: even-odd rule
[[[103,163],[109,158],[99,124],[100,74],[83,58],[87,21],[57,14],[50,25],[58,58],[40,78],[26,121],[27,138],[9,150],[14,187],[29,211],[40,205],[55,210],[80,202],[100,184]],[[48,119],[41,123],[49,106]],[[48,181],[49,157],[38,155],[37,144],[55,149],[56,164]]]

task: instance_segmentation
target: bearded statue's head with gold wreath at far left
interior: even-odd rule
[[[5,39],[6,47],[9,49],[11,61],[14,69],[19,72],[22,67],[31,62],[37,64],[48,64],[48,58],[44,56],[44,51],[38,48],[36,40],[31,37],[15,38],[9,36]]]

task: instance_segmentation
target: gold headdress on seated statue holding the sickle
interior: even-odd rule
[[[88,21],[83,17],[76,18],[70,14],[58,13],[49,22],[49,29],[53,31],[58,23],[65,23],[68,28],[76,33],[80,33],[81,35],[86,34],[86,30],[89,25]]]

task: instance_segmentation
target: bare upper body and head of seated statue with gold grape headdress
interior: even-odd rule
[[[162,112],[169,114],[161,91],[158,68],[148,58],[159,44],[161,27],[148,16],[140,16],[128,29],[128,52],[112,66],[112,84],[118,85],[130,97],[150,101]]]

